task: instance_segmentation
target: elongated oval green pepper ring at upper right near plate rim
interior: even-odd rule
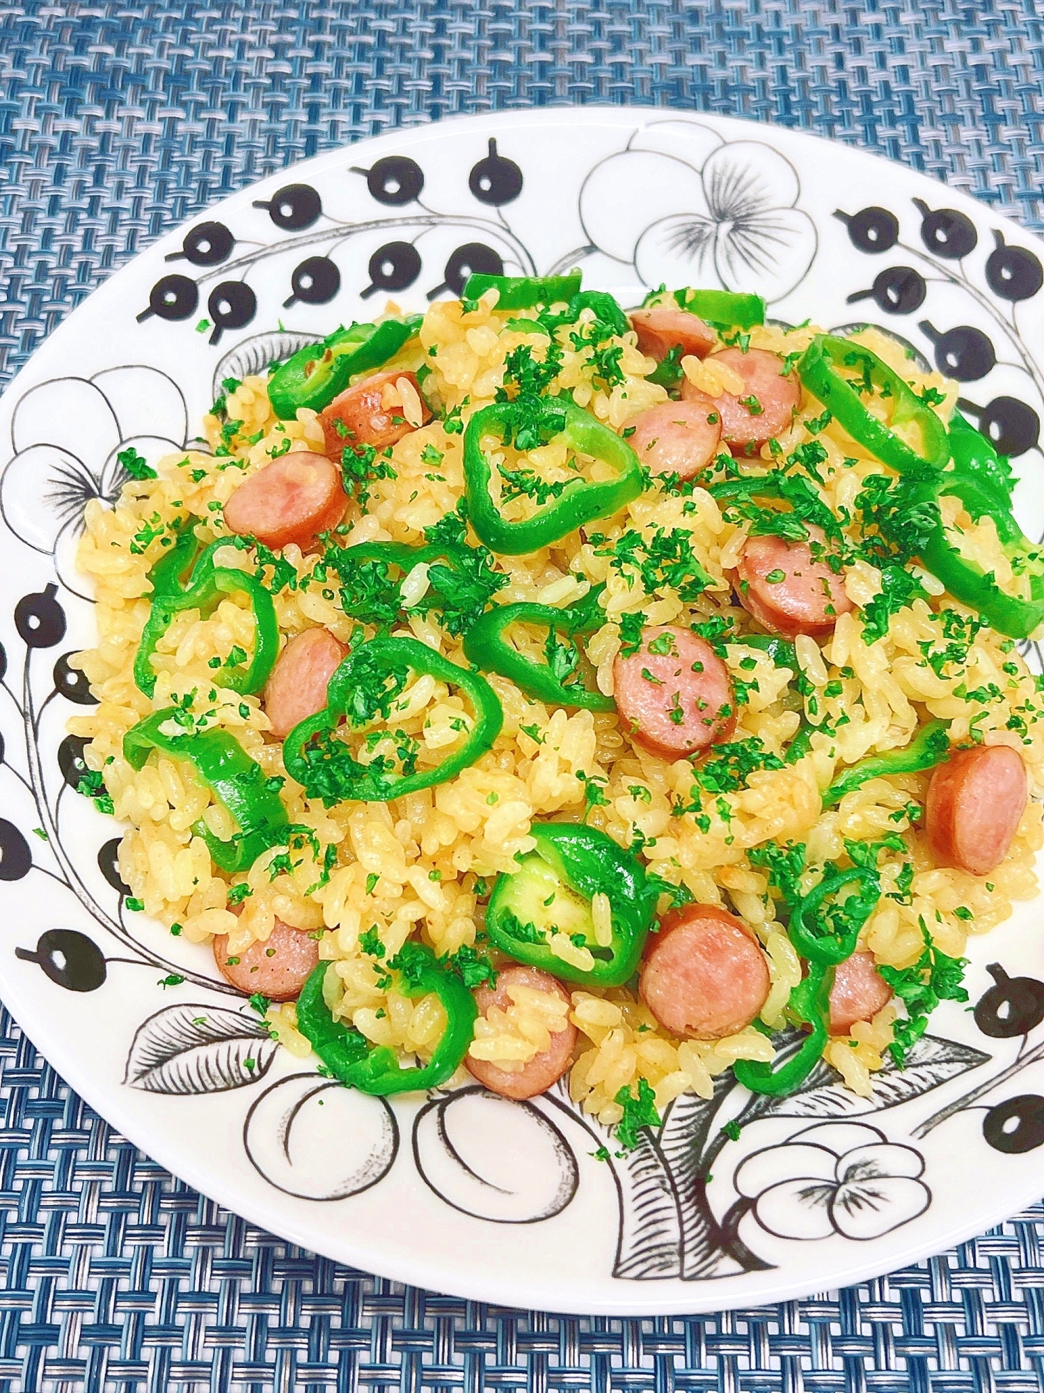
[[[892,401],[892,423],[913,422],[920,430],[923,454],[912,450],[899,436],[871,417],[859,391],[841,376],[835,364],[862,368],[864,391],[877,389],[878,396]],[[802,384],[817,397],[834,419],[853,440],[864,446],[876,460],[899,474],[924,474],[926,465],[941,469],[949,458],[947,428],[898,372],[883,362],[876,352],[849,338],[817,334],[798,361]]]

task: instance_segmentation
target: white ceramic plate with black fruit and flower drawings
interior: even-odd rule
[[[590,107],[333,150],[138,256],[0,405],[0,995],[33,1042],[143,1151],[248,1219],[390,1277],[522,1307],[651,1315],[805,1295],[1037,1199],[1038,904],[973,940],[976,1011],[940,1010],[873,1102],[825,1068],[775,1103],[722,1080],[710,1103],[679,1099],[629,1159],[600,1162],[612,1139],[561,1091],[387,1105],[329,1084],[271,1045],[206,949],[128,912],[120,829],[74,791],[64,729],[92,698],[64,655],[93,642],[71,557],[86,499],[120,486],[118,450],[184,444],[223,378],[386,295],[422,309],[472,269],[582,265],[625,302],[660,281],[721,284],[761,291],[785,322],[877,323],[962,380],[969,414],[1015,456],[1038,536],[1041,256],[969,198],[839,145]],[[986,995],[1005,971],[1026,981]],[[184,982],[160,985],[170,974]],[[721,1128],[736,1116],[732,1141]]]

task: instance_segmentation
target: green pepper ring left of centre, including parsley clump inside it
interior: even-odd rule
[[[394,773],[395,761],[384,755],[362,763],[344,741],[333,736],[334,727],[341,717],[356,727],[369,724],[377,716],[390,719],[411,671],[430,673],[437,681],[459,687],[466,694],[475,708],[470,734],[434,769],[416,772],[416,741],[409,741],[409,737],[404,737],[400,752],[402,773]],[[326,699],[323,710],[302,720],[287,736],[283,762],[308,797],[322,798],[327,808],[347,800],[387,802],[455,779],[491,748],[504,724],[500,699],[484,677],[405,635],[379,635],[348,653],[330,678]],[[386,736],[397,738],[391,731],[381,733],[379,738]]]

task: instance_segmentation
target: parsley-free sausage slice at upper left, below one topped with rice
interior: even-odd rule
[[[341,471],[324,454],[301,450],[245,479],[226,503],[224,520],[230,532],[278,550],[291,542],[309,546],[337,527],[347,507]]]

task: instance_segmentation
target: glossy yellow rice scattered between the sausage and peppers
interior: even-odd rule
[[[425,318],[419,345],[405,350],[394,366],[402,371],[429,366],[425,390],[445,407],[462,407],[466,418],[473,408],[493,400],[505,354],[519,344],[540,344],[519,329],[505,327],[508,319],[518,320],[519,315],[497,313],[490,298],[468,313],[457,301],[434,304]],[[793,354],[813,333],[813,329],[785,333],[766,326],[752,330],[750,343]],[[910,364],[892,340],[874,332],[860,337],[910,376]],[[574,351],[568,337],[562,338],[564,366],[553,390],[571,391],[579,405],[614,429],[626,428],[638,412],[667,400],[661,387],[643,380],[653,359],[638,350],[633,333],[617,340],[625,380],[611,390],[594,380],[590,350]],[[721,393],[722,383],[711,368],[689,366],[700,390]],[[913,376],[916,390],[931,386],[942,394],[937,410],[947,419],[955,386],[937,373]],[[784,450],[813,439],[806,422],[821,414],[818,401],[803,398],[793,428],[781,436]],[[319,939],[320,957],[335,963],[335,974],[327,975],[327,1002],[334,1014],[351,1020],[372,1041],[425,1059],[441,1034],[441,1006],[433,996],[409,1000],[387,992],[379,965],[361,949],[361,935],[376,926],[387,956],[411,936],[440,954],[473,943],[482,931],[482,907],[493,879],[498,872],[512,871],[516,853],[533,846],[532,822],[579,819],[585,780],[592,779],[604,780],[607,797],[606,805],[592,811],[592,825],[625,844],[640,834],[651,869],[688,886],[697,901],[722,903],[728,896],[727,907],[752,926],[767,949],[771,968],[773,985],[761,1011],[770,1025],[782,1022],[782,1006],[799,979],[800,965],[774,917],[766,873],[748,861],[748,851],[768,839],[807,841],[813,864],[841,855],[845,839],[901,832],[915,865],[910,893],[888,897],[895,890],[902,857],[887,851],[881,858],[885,893],[860,936],[860,947],[870,949],[878,963],[896,967],[919,957],[922,921],[945,953],[960,954],[969,932],[992,928],[1011,914],[1012,901],[1036,893],[1034,853],[1044,837],[1040,804],[1033,800],[1011,854],[986,879],[931,865],[923,836],[909,822],[910,801],[923,802],[927,775],[876,779],[848,794],[838,807],[821,808],[820,791],[844,766],[870,752],[909,744],[933,717],[954,722],[955,742],[966,740],[973,727],[986,742],[1012,745],[1026,763],[1030,793],[1044,791],[1040,726],[1030,720],[1019,729],[1026,719],[1025,703],[1036,703],[1036,685],[1018,652],[983,628],[972,645],[967,670],[937,676],[923,664],[922,645],[942,648],[947,639],[924,600],[901,610],[887,635],[873,644],[863,642],[857,609],[839,617],[834,635],[823,645],[798,639],[798,662],[810,694],[803,698],[807,719],[816,724],[825,715],[832,723],[841,719],[842,724],[832,737],[813,736],[806,758],[780,770],[757,772],[748,788],[725,794],[717,802],[711,800],[704,826],[692,814],[678,815],[674,808],[675,802],[689,802],[689,762],[668,763],[644,752],[621,729],[615,713],[548,709],[493,676],[490,683],[504,706],[503,734],[496,748],[454,781],[387,805],[342,804],[326,809],[319,801],[305,800],[299,786],[287,780],[283,795],[290,820],[312,827],[320,846],[334,843],[338,848],[329,883],[315,889],[320,868],[308,850],[295,855],[290,873],[273,875],[269,869],[278,848],[260,857],[245,875],[216,872],[192,826],[202,818],[213,833],[227,837],[234,830],[227,814],[212,802],[185,763],[153,755],[135,772],[122,758],[121,740],[142,716],[174,701],[188,701],[202,710],[205,696],[216,690],[216,698],[206,702],[207,709],[216,706],[214,722],[234,734],[267,775],[285,773],[281,744],[270,733],[260,699],[216,687],[214,669],[209,666],[235,645],[251,646],[253,621],[241,598],[226,598],[209,618],[192,612],[175,618],[159,646],[152,701],[132,678],[138,638],[149,613],[149,599],[142,598],[149,589],[146,574],[161,554],[163,529],[192,514],[205,524],[206,538],[217,538],[221,522],[220,507],[214,504],[223,504],[245,476],[285,450],[285,442],[291,451],[323,450],[323,429],[315,412],[302,410],[296,421],[278,422],[260,378],[246,379],[228,396],[227,419],[241,422],[234,435],[228,437],[226,430],[223,440],[223,422],[206,417],[203,433],[209,450],[170,456],[156,481],[128,483],[114,510],[92,503],[79,550],[79,564],[97,593],[97,646],[84,652],[79,664],[99,705],[72,719],[70,730],[89,738],[85,759],[103,772],[116,816],[125,826],[120,873],[143,900],[149,915],[180,926],[181,935],[193,943],[228,935],[230,950],[235,951],[237,944],[263,942],[276,918],[310,931]],[[835,508],[851,508],[860,481],[881,472],[881,465],[834,423],[814,439],[828,454],[821,467],[828,499]],[[916,437],[910,436],[910,442],[916,444]],[[217,447],[227,453],[210,453]],[[426,447],[441,454],[436,467]],[[569,476],[562,447],[551,443],[536,454],[546,478]],[[767,449],[763,454],[770,458]],[[367,513],[349,508],[348,545],[422,543],[423,529],[457,507],[464,485],[461,435],[447,435],[441,422],[433,421],[400,440],[391,462],[395,476],[373,483]],[[952,510],[951,521],[960,522],[959,503],[945,500],[945,506]],[[508,515],[512,507],[505,507]],[[994,568],[1001,582],[1016,586],[1011,571],[1005,574],[992,524],[973,527],[965,517],[963,525],[963,549],[977,556],[986,570]],[[670,588],[649,598],[640,575],[611,567],[579,532],[536,554],[498,557],[496,563],[509,578],[497,596],[503,602],[567,606],[592,585],[606,582],[604,623],[587,649],[606,694],[612,691],[619,620],[628,612],[642,610],[650,624],[688,624],[725,613],[741,632],[752,623],[725,579],[736,566],[745,534],[724,521],[710,493],[696,489],[688,497],[651,490],[596,525],[610,539],[628,528],[644,536],[657,528],[683,529],[693,554],[714,578],[713,588],[695,603],[683,603]],[[309,575],[315,556],[302,556],[292,546],[287,556],[301,577]],[[231,546],[217,560],[221,566],[245,564],[244,554]],[[423,577],[413,578],[413,584],[423,586]],[[931,577],[926,577],[924,585],[933,593],[940,591]],[[878,573],[856,564],[846,586],[860,606],[880,588]],[[276,595],[276,609],[284,641],[312,625],[324,625],[347,642],[354,628],[334,591],[322,582],[283,589]],[[459,639],[448,638],[433,620],[415,614],[398,631],[412,632],[448,657],[464,660]],[[732,738],[757,736],[770,751],[781,754],[800,722],[793,688],[789,696],[785,694],[786,670],[775,669],[764,652],[742,642],[729,644],[727,652],[734,677],[750,684]],[[965,701],[956,691],[960,684],[965,690],[986,690],[992,684],[1002,699]],[[432,677],[413,678],[406,695],[409,705],[397,724],[420,741],[422,763],[434,763],[455,738],[452,723],[462,710],[461,698]],[[242,911],[234,914],[228,892],[242,880],[252,893],[242,901]],[[970,919],[956,912],[962,907],[972,911]],[[521,1059],[525,1049],[518,1042],[528,1038],[536,1050],[547,1032],[548,1010],[553,1010],[548,1003],[528,1000],[522,993],[509,1021],[501,1022],[500,1029],[484,1028],[480,1046],[484,1057]],[[871,1087],[871,1073],[881,1066],[894,1017],[895,1009],[888,1006],[873,1022],[853,1027],[851,1038],[828,1046],[828,1061],[857,1092],[866,1094]],[[606,1123],[618,1120],[621,1109],[614,1099],[638,1077],[653,1085],[663,1106],[685,1091],[709,1096],[715,1074],[736,1059],[771,1059],[770,1042],[753,1027],[709,1043],[670,1038],[626,989],[575,990],[569,1018],[580,1031],[569,1092]],[[299,1056],[308,1053],[306,1041],[295,1029],[292,1003],[273,1007],[269,1020],[288,1049]],[[498,1035],[504,1039],[498,1041]]]

